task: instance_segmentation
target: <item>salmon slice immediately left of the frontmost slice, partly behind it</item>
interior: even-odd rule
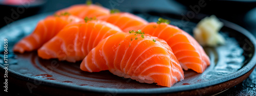
[[[63,28],[37,51],[43,59],[58,58],[76,62],[82,60],[102,39],[122,32],[105,21],[74,23]]]

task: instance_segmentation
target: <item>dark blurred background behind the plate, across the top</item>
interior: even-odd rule
[[[86,1],[72,0],[0,0],[2,13],[0,27],[24,17],[54,12]],[[93,0],[109,9],[126,12],[161,12],[193,17],[194,15],[216,15],[236,23],[256,36],[256,0]]]

